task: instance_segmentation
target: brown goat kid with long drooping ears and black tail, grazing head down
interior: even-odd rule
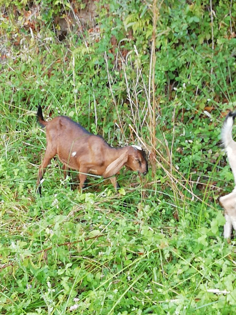
[[[40,185],[45,169],[57,154],[63,163],[64,176],[68,169],[79,171],[80,188],[84,187],[87,174],[114,176],[125,165],[128,169],[147,174],[146,154],[139,146],[111,147],[101,136],[93,135],[69,117],[57,116],[51,121],[43,119],[42,108],[38,106],[38,122],[46,127],[47,148],[39,167],[37,186]],[[116,178],[110,178],[115,189],[119,187]],[[41,186],[38,187],[41,195]]]

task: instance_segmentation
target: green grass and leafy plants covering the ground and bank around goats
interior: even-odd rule
[[[121,172],[119,196],[101,178],[80,193],[53,160],[35,194],[39,104],[114,146],[137,144],[131,124],[151,152],[153,3],[96,3],[97,41],[77,24],[58,39],[55,17],[85,2],[1,3],[1,313],[232,314],[235,242],[217,198],[234,185],[219,146],[236,104],[233,1],[157,3],[153,176]]]

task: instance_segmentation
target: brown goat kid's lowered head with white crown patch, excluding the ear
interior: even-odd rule
[[[133,171],[146,175],[148,172],[148,161],[145,151],[140,146],[130,146],[128,160],[125,165]]]

